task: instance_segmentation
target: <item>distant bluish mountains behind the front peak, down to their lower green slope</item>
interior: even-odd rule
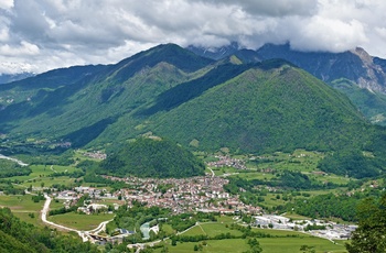
[[[236,43],[229,46],[239,48]],[[204,48],[189,46],[189,50],[204,54]],[[221,51],[212,48],[213,52]],[[233,63],[257,63],[265,59],[282,58],[305,69],[319,79],[345,94],[361,112],[373,123],[386,125],[386,59],[373,57],[363,48],[343,53],[300,52],[290,48],[289,44],[266,44],[256,51],[234,50],[223,59]],[[218,58],[216,57],[213,58]],[[351,85],[341,86],[342,81]]]

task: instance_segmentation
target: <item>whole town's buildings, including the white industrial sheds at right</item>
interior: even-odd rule
[[[132,176],[126,178],[114,176],[104,177],[114,182],[124,182],[128,187],[115,193],[107,193],[107,190],[104,189],[81,186],[75,187],[73,190],[55,193],[53,194],[53,197],[56,199],[66,199],[67,201],[65,204],[68,208],[72,202],[78,200],[84,195],[89,195],[92,200],[84,207],[78,208],[78,212],[84,212],[86,215],[90,215],[92,211],[98,210],[108,211],[108,207],[100,204],[104,199],[119,199],[121,204],[128,205],[128,207],[130,207],[133,201],[137,201],[146,207],[156,206],[168,208],[174,215],[186,212],[216,212],[234,216],[237,220],[239,219],[240,213],[244,213],[251,216],[253,219],[249,226],[253,227],[307,232],[314,237],[328,240],[349,239],[351,233],[356,229],[356,226],[342,226],[330,221],[293,221],[283,216],[265,215],[261,208],[245,205],[240,201],[238,196],[232,196],[226,193],[223,189],[223,186],[228,183],[228,179],[210,174],[182,179],[138,178]],[[118,205],[115,205],[115,209],[117,208]],[[158,227],[150,229],[157,231]],[[119,239],[117,241],[119,243],[124,237],[133,233],[133,231],[127,231],[125,228],[120,228],[119,231],[124,231],[119,237],[106,238],[98,235],[95,232],[82,232],[82,237],[84,240],[89,240],[94,243],[117,241],[117,239]]]

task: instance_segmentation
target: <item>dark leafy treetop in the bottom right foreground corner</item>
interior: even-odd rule
[[[357,208],[358,228],[352,233],[350,253],[386,252],[386,195],[379,201],[365,199]]]

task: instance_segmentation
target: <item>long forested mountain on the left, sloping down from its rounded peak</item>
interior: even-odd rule
[[[34,95],[2,108],[0,132],[10,136],[22,133],[21,136],[71,141],[74,146],[82,146],[158,94],[200,77],[212,63],[168,44],[116,65],[100,66],[92,74],[85,67],[86,72],[78,73],[75,79],[69,69],[56,69],[10,84],[8,87],[12,92],[22,95],[32,90]],[[62,81],[65,85],[55,87],[55,80],[62,76],[65,76],[64,80],[73,81]]]

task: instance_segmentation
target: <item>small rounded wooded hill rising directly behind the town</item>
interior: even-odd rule
[[[205,165],[171,141],[141,138],[100,162],[98,174],[139,177],[191,177],[204,175]]]

